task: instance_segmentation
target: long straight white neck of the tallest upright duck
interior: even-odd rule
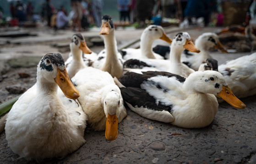
[[[116,40],[114,37],[114,31],[109,32],[109,35],[104,36],[104,44],[105,44],[105,49],[107,51],[106,55],[106,64],[109,63],[116,63],[118,62],[118,57],[117,57],[117,46],[116,46]]]

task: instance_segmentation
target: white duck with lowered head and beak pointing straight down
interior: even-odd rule
[[[87,123],[94,131],[105,131],[105,138],[112,141],[117,138],[118,123],[127,115],[119,87],[109,72],[87,67],[71,79],[80,97]]]

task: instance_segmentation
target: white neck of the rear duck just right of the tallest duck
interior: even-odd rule
[[[142,37],[141,42],[140,42],[140,47],[141,47],[141,52],[143,56],[147,56],[149,59],[155,59],[156,57],[153,54],[152,50],[152,44],[153,44],[153,39],[147,39]]]

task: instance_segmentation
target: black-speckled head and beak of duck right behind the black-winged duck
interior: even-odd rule
[[[191,41],[191,37],[187,32],[180,32],[176,34],[173,39],[171,48],[180,49],[181,51],[184,51],[186,49],[191,52],[200,52],[200,50]]]

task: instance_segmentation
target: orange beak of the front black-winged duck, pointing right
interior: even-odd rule
[[[232,105],[234,108],[244,109],[246,106],[237,97],[234,96],[233,92],[230,90],[229,86],[223,86],[221,92],[218,96],[223,98],[227,103]]]

